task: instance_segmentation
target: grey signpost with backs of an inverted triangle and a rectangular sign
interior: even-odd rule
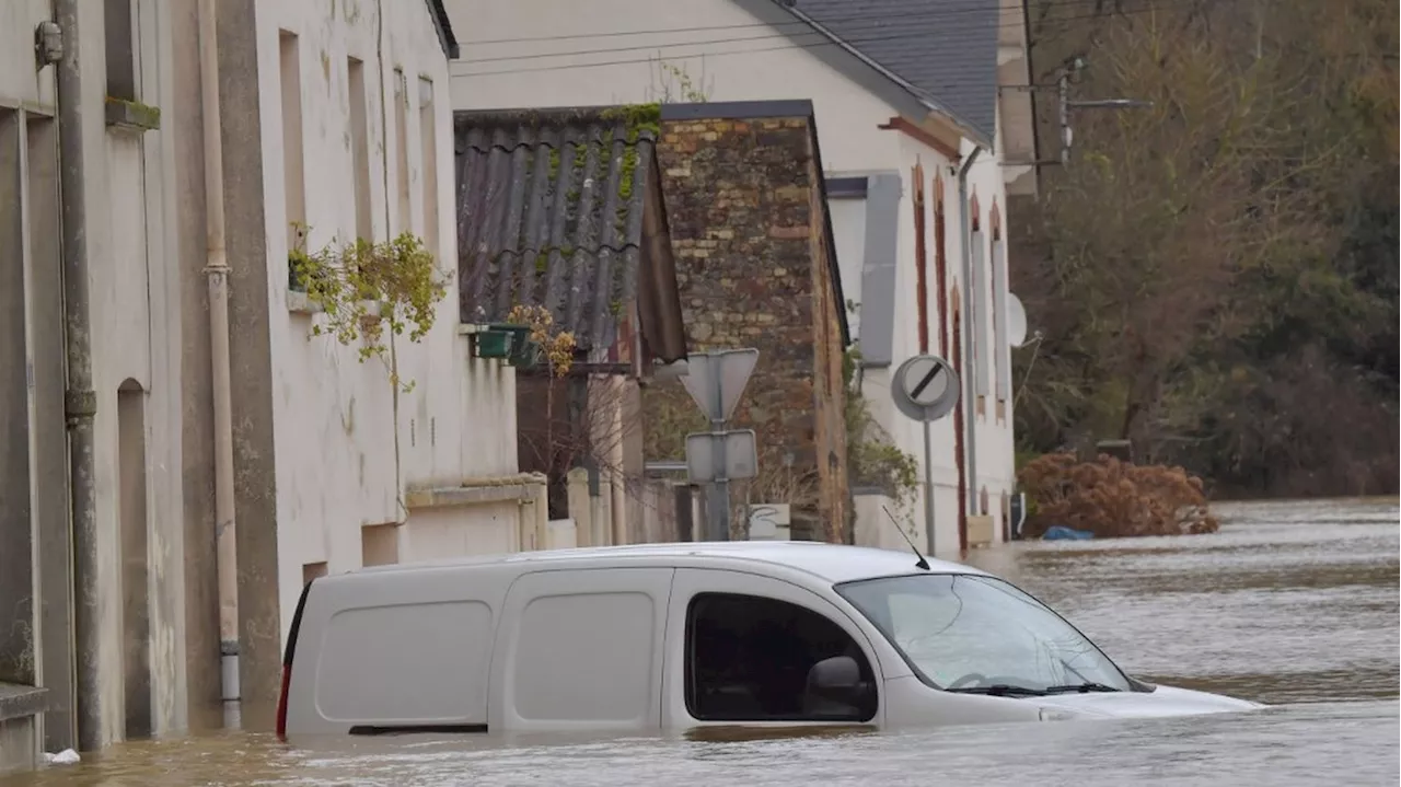
[[[730,482],[754,478],[758,445],[754,430],[726,430],[759,351],[712,350],[692,353],[681,382],[710,420],[710,431],[686,436],[686,473],[691,483],[709,485],[705,541],[730,539]]]

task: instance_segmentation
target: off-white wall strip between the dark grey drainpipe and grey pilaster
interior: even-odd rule
[[[136,0],[133,7],[137,90],[143,102],[158,106],[172,90],[165,11],[151,0]],[[102,6],[84,3],[80,14],[92,374],[98,396],[94,480],[101,562],[101,703],[104,738],[118,739],[125,707],[116,392],[126,379],[146,392],[147,587],[157,731],[184,727],[186,711],[179,266],[174,262],[171,220],[174,141],[170,129],[134,134],[105,125]],[[153,325],[161,329],[151,330]]]

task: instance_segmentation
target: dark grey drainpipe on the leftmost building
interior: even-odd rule
[[[78,0],[55,0],[63,31],[57,67],[59,189],[63,195],[63,325],[69,427],[69,493],[73,517],[73,639],[77,648],[78,749],[102,745],[102,695],[98,675],[102,626],[98,616],[97,487],[94,485],[92,325],[88,315],[87,193],[83,164],[83,62],[78,55]]]

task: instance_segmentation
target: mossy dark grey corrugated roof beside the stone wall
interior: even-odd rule
[[[454,137],[462,322],[545,305],[601,351],[636,302],[653,356],[685,356],[646,123],[607,108],[455,112]]]

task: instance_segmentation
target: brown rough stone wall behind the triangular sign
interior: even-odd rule
[[[845,541],[842,346],[813,139],[807,118],[668,120],[657,153],[691,350],[759,350],[733,424],[758,433],[750,500],[790,503],[794,536]],[[644,409],[649,459],[681,458],[684,431],[703,426],[678,382],[651,385]]]

